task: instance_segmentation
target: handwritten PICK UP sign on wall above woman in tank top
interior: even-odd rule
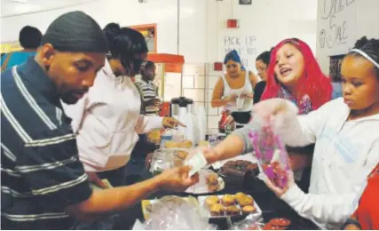
[[[237,51],[243,66],[253,68],[257,57],[256,40],[256,36],[224,36],[224,52]]]

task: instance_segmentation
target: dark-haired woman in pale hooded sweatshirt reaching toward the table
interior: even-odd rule
[[[110,53],[105,67],[90,91],[75,105],[66,105],[77,132],[79,157],[90,179],[108,179],[114,187],[125,184],[125,166],[138,141],[138,134],[154,129],[177,126],[170,117],[142,116],[140,95],[130,80],[146,60],[144,36],[131,28],[108,24],[104,29]],[[182,124],[181,124],[182,125]]]

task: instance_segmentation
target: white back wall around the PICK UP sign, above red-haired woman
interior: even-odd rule
[[[298,37],[316,48],[317,1],[315,0],[259,0],[251,5],[239,1],[207,1],[208,56],[207,60],[224,60],[225,36],[239,36],[242,58],[249,60],[249,68],[255,70],[255,59],[281,40]],[[226,20],[240,20],[240,28],[226,28]],[[246,39],[255,41],[243,45]],[[247,48],[249,48],[248,53]]]

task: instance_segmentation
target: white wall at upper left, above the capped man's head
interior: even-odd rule
[[[90,14],[101,27],[109,22],[121,26],[157,23],[159,52],[178,52],[177,0],[148,0],[139,4],[137,0],[99,0],[61,10],[38,12],[16,17],[2,18],[1,41],[17,40],[20,28],[35,26],[45,31],[52,20],[64,12],[80,10]]]

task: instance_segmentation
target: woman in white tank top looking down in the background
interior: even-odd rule
[[[228,114],[251,110],[254,87],[260,81],[259,77],[241,65],[241,58],[234,50],[225,55],[224,64],[226,72],[218,79],[213,90],[212,108],[223,107]],[[243,103],[237,105],[238,99],[243,100]]]

